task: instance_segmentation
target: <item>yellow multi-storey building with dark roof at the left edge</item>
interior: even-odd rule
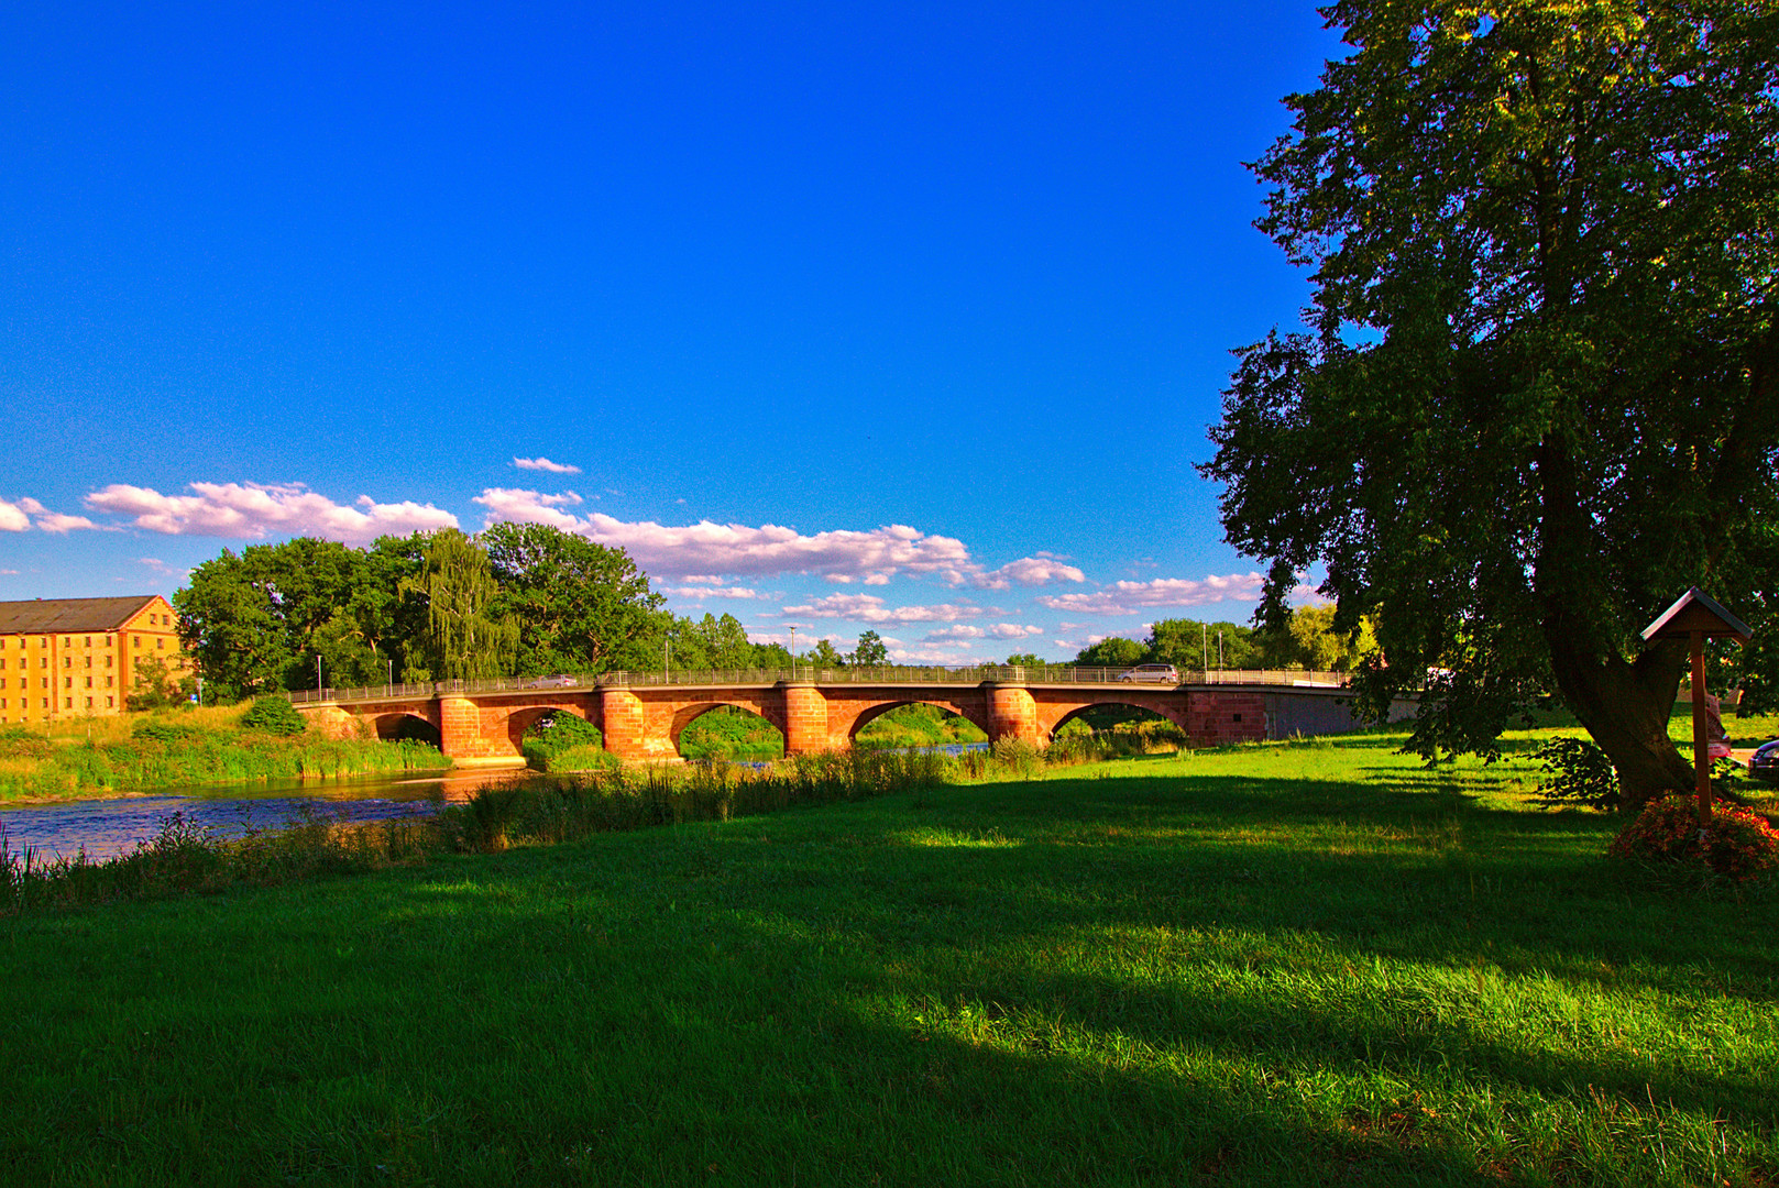
[[[119,713],[149,658],[187,667],[158,594],[0,603],[0,726]]]

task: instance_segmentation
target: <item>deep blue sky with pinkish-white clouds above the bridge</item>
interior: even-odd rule
[[[0,11],[0,599],[546,519],[756,640],[1242,621],[1309,4]]]

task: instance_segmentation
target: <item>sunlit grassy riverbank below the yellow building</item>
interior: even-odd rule
[[[190,784],[338,779],[450,767],[418,742],[327,740],[242,724],[240,706],[0,729],[0,804],[153,793]]]

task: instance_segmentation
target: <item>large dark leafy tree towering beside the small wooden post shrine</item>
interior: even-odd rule
[[[1343,2],[1288,100],[1260,228],[1309,334],[1240,352],[1215,459],[1277,601],[1324,566],[1377,614],[1366,702],[1432,670],[1416,745],[1491,752],[1555,686],[1630,804],[1667,734],[1688,585],[1731,608],[1779,510],[1779,7]]]

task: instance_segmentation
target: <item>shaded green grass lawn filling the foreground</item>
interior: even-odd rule
[[[0,1181],[1772,1184],[1779,905],[1400,736],[0,921]]]

